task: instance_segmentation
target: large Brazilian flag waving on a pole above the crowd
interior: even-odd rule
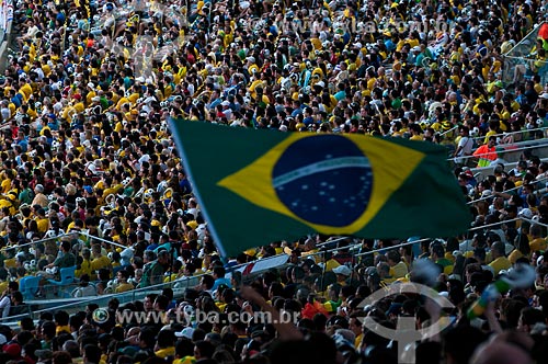
[[[225,257],[311,232],[445,237],[471,221],[446,149],[433,144],[170,124]]]

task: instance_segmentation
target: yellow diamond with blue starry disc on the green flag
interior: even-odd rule
[[[354,234],[424,157],[362,135],[292,134],[218,185],[319,232]]]

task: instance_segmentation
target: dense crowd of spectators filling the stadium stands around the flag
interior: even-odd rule
[[[498,146],[545,136],[548,42],[535,39],[511,82],[502,55],[547,5],[16,1],[19,36],[0,78],[0,315],[19,327],[0,326],[0,363],[396,363],[398,353],[421,364],[543,363],[548,166],[527,155],[509,169]],[[317,236],[222,261],[170,117],[450,146],[472,229],[418,242]],[[500,166],[478,181],[470,156]],[[231,272],[284,253],[284,270]],[[359,305],[415,280],[421,259],[435,264],[430,285],[452,309],[409,293]],[[515,264],[534,266],[536,282],[468,319]],[[33,300],[61,298],[48,280],[71,268],[73,297],[175,283],[142,302],[25,316]],[[41,282],[28,296],[30,276]],[[193,288],[179,294],[178,282]],[[242,312],[253,319],[228,322]],[[403,318],[450,325],[410,350],[367,329],[366,317],[392,330]]]

